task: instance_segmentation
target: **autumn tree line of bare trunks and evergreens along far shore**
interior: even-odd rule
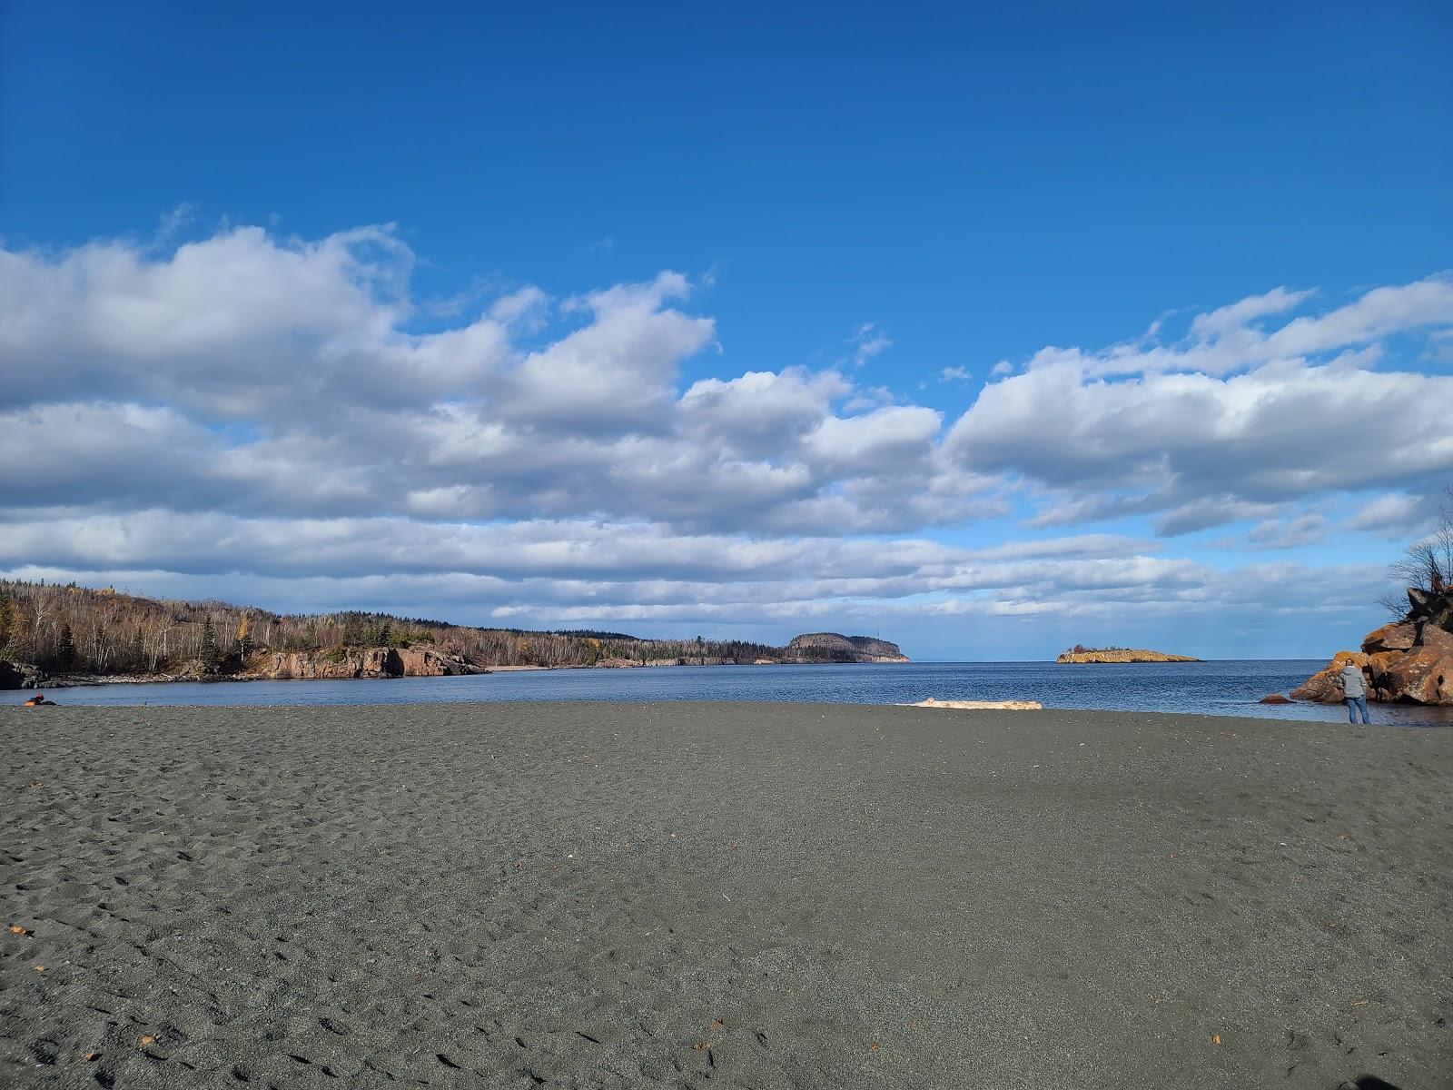
[[[594,666],[776,658],[783,648],[740,639],[639,639],[620,632],[469,628],[388,613],[272,613],[227,602],[158,600],[112,587],[0,580],[0,658],[49,673],[211,671],[278,651],[343,655],[363,647],[432,647],[475,666]]]

